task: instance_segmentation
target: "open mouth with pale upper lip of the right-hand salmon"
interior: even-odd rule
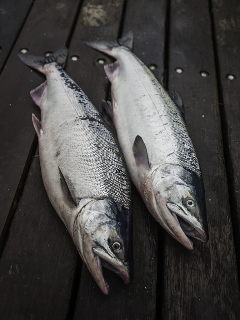
[[[190,236],[204,243],[208,241],[201,223],[195,217],[189,216],[185,210],[176,204],[166,203],[166,206],[186,237]],[[189,238],[188,240],[191,242]]]

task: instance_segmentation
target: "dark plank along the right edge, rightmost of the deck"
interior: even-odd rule
[[[239,14],[240,5],[238,1],[212,1],[218,76],[220,80],[220,110],[238,269],[240,264]],[[231,80],[231,76],[233,76],[233,80]]]

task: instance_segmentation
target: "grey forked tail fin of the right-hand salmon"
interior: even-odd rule
[[[112,48],[125,46],[128,49],[132,50],[133,44],[133,32],[129,31],[123,37],[119,38],[117,41],[84,41],[85,44],[89,45],[90,47],[104,52],[111,57],[115,57],[115,54],[112,52]]]

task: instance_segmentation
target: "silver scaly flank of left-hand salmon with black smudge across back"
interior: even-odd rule
[[[49,152],[54,151],[52,156],[58,154],[58,165],[60,169],[64,168],[61,170],[65,180],[74,186],[77,198],[108,197],[129,209],[130,190],[126,169],[109,125],[76,83],[59,66],[55,67],[55,62],[48,64],[47,68],[47,81],[52,82],[57,78],[70,102],[68,108],[63,108],[60,113],[56,113],[48,104],[41,108],[45,119],[43,131],[48,127],[49,132],[54,131],[57,137],[56,143],[49,147]],[[52,96],[50,90],[48,95]],[[58,99],[54,105],[59,106],[60,102]],[[44,116],[45,110],[47,116]],[[72,149],[81,150],[81,153],[72,153]]]

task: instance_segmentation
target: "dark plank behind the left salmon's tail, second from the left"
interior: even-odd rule
[[[35,143],[31,149],[35,137],[31,114],[40,113],[29,92],[41,84],[41,77],[21,63],[17,53],[24,47],[40,55],[64,45],[78,4],[79,0],[36,2],[0,76],[0,249],[36,148]]]

